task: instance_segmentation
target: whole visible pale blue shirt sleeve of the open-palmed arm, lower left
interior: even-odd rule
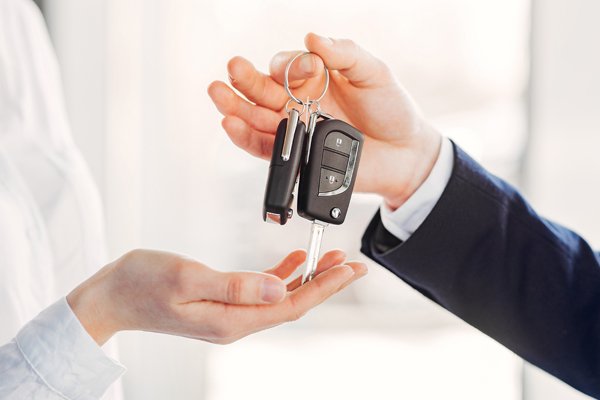
[[[0,347],[0,398],[99,399],[124,372],[63,297]]]

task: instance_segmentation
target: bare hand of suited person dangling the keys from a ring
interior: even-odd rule
[[[322,108],[365,135],[355,189],[380,194],[391,208],[401,206],[429,175],[439,153],[440,134],[423,119],[382,61],[346,39],[308,34],[305,44],[319,57],[301,56],[292,65],[290,87],[300,99],[319,93],[325,63],[330,86]],[[297,54],[275,55],[270,75],[241,57],[233,58],[228,64],[230,81],[247,100],[224,82],[209,87],[212,100],[225,116],[225,131],[252,155],[271,158],[277,126],[287,117],[285,67]]]

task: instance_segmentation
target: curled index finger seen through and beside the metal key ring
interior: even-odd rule
[[[285,68],[290,60],[295,57],[299,51],[281,51],[271,59],[269,64],[269,73],[273,80],[280,85],[285,81]],[[319,76],[323,71],[323,60],[314,54],[305,54],[298,57],[290,66],[288,75],[290,87],[295,88],[302,85],[306,79]]]

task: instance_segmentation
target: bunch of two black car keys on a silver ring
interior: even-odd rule
[[[342,224],[346,218],[363,144],[356,128],[321,111],[319,101],[329,85],[327,67],[325,86],[316,100],[304,102],[290,90],[290,67],[304,54],[298,53],[286,66],[288,118],[280,122],[275,135],[263,209],[265,221],[284,225],[293,214],[293,190],[300,174],[298,214],[313,221],[302,283],[315,274],[325,227]],[[300,108],[291,108],[292,103]],[[306,124],[300,120],[303,114]]]

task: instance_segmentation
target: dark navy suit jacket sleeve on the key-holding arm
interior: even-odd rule
[[[400,242],[377,214],[362,251],[527,361],[600,397],[600,255],[460,148],[419,229]]]

